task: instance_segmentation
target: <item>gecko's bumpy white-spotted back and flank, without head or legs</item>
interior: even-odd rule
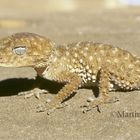
[[[65,67],[77,73],[83,84],[98,82],[100,69],[107,67],[110,90],[139,89],[140,59],[126,50],[108,44],[80,42],[59,46],[55,55],[59,63],[52,65],[61,64],[63,66],[57,66],[59,69]]]

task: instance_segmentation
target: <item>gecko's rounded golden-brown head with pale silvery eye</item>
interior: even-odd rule
[[[51,55],[54,43],[34,33],[16,33],[0,39],[0,66],[43,67]]]

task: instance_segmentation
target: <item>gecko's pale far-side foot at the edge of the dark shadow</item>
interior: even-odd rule
[[[40,94],[42,93],[47,93],[46,90],[44,89],[39,89],[39,88],[35,88],[31,91],[24,91],[24,92],[20,92],[18,93],[19,96],[24,95],[24,98],[30,98],[31,96],[35,96],[37,99],[40,99]]]

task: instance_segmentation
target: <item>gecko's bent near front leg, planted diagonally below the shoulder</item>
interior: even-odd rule
[[[62,102],[67,99],[82,83],[82,79],[73,73],[63,72],[59,74],[62,81],[66,81],[66,85],[57,93],[57,95],[47,104],[46,110],[49,115],[57,108],[62,107]]]

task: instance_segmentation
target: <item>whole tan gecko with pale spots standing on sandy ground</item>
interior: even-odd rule
[[[18,53],[15,53],[13,46],[9,43],[3,43],[3,47],[0,49],[0,66],[31,66],[41,77],[65,84],[47,103],[47,114],[62,107],[64,100],[85,85],[97,86],[99,95],[95,99],[89,98],[90,102],[83,106],[84,112],[111,101],[109,91],[132,91],[140,88],[140,58],[126,50],[92,41],[59,46],[49,43],[49,45],[41,47],[42,39],[39,41],[35,39],[35,44],[30,45],[32,41],[27,43],[30,41],[30,35],[25,34],[27,36],[24,36],[25,40],[23,40],[22,35],[23,33],[19,33],[17,36],[14,35],[12,39],[11,36],[8,37],[10,38],[9,42],[16,44],[15,40],[18,40],[20,45],[15,45],[15,48],[22,46],[27,50],[30,49],[30,55],[27,50],[23,49],[23,51],[21,48]],[[31,34],[31,36],[34,35]],[[1,42],[4,41],[0,41],[0,44]],[[38,44],[42,50],[35,49],[34,52],[33,48],[36,48]],[[45,52],[45,50],[47,51]],[[39,56],[37,61],[37,58],[32,55],[34,53]]]

